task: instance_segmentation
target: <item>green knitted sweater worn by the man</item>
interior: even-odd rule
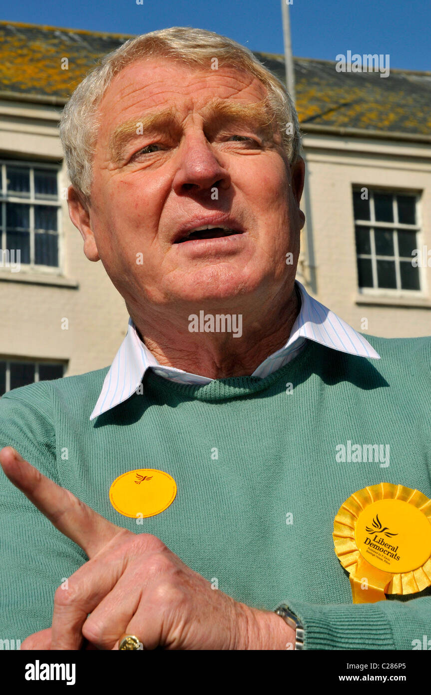
[[[190,386],[148,370],[142,395],[93,422],[107,369],[24,386],[0,400],[0,445],[113,523],[159,537],[233,598],[287,603],[306,649],[412,649],[431,637],[430,589],[353,605],[332,530],[342,502],[367,485],[431,498],[431,338],[366,339],[380,361],[307,341],[264,379]],[[339,462],[348,441],[389,445],[389,466]],[[178,486],[140,525],[109,500],[112,481],[136,468]],[[23,640],[51,625],[56,588],[87,557],[2,471],[0,549],[0,639]]]

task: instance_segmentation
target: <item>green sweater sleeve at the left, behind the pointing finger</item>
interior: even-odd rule
[[[31,384],[0,399],[0,449],[13,446],[58,482],[46,387]],[[49,628],[57,587],[86,560],[0,468],[0,639],[16,644]]]

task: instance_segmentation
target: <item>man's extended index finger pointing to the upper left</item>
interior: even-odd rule
[[[110,523],[94,509],[87,507],[69,490],[49,480],[25,461],[11,446],[0,451],[4,473],[33,505],[71,541],[78,543],[89,558],[94,557],[124,528]]]

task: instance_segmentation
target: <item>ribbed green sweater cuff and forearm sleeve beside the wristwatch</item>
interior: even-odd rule
[[[313,604],[286,600],[304,626],[304,649],[412,650],[431,637],[431,596],[378,603]],[[417,644],[417,643],[416,643]]]

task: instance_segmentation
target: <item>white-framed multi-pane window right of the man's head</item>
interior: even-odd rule
[[[412,265],[420,231],[416,206],[412,193],[353,189],[360,288],[421,290],[419,268]]]

